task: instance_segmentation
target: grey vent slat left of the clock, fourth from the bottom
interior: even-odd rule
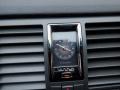
[[[41,54],[33,55],[10,55],[2,56],[0,65],[4,64],[22,64],[22,63],[44,63],[44,56]]]

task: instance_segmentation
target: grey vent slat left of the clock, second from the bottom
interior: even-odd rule
[[[42,82],[45,81],[44,74],[33,74],[33,75],[4,75],[0,84],[10,84],[10,83],[24,83],[24,82]]]

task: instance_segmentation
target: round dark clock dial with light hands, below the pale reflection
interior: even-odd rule
[[[68,40],[56,40],[53,43],[54,54],[60,60],[69,60],[75,54],[75,43]]]

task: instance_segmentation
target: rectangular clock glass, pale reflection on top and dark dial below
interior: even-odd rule
[[[75,65],[76,56],[76,32],[53,32],[52,51],[54,63],[57,66]],[[53,66],[54,66],[53,63]]]

